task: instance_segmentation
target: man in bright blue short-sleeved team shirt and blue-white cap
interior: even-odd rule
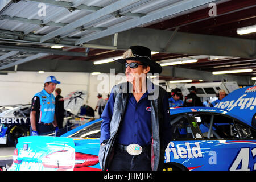
[[[54,76],[44,81],[44,89],[32,98],[30,122],[31,135],[46,135],[59,130],[55,116],[55,97],[52,92],[60,84]]]

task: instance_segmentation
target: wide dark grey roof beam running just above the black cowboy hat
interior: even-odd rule
[[[119,32],[117,49],[129,49],[131,45],[137,44],[158,52],[256,59],[256,40],[187,32],[177,32],[170,46],[163,51],[172,33],[173,31],[140,27]],[[88,43],[108,45],[111,44],[110,40],[111,36],[107,36]]]

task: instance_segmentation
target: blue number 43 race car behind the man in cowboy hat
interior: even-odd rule
[[[215,107],[170,109],[163,170],[256,170],[256,86],[235,90]],[[100,170],[97,119],[61,137],[22,137],[9,170]]]

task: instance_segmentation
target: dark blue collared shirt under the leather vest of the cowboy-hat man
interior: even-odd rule
[[[116,142],[119,144],[129,145],[132,143],[139,144],[140,146],[151,145],[151,108],[148,92],[144,93],[139,102],[135,100],[133,94],[129,94],[127,101],[126,112],[124,114],[122,125],[119,128]],[[102,113],[103,122],[101,124],[101,138],[100,143],[110,138],[109,126],[113,114],[114,107],[114,93],[110,94],[109,101]],[[170,132],[170,109],[168,105],[167,94],[164,96],[163,101],[163,132],[164,146],[167,146],[171,138]]]

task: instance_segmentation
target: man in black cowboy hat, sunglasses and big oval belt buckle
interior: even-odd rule
[[[159,74],[162,67],[151,60],[151,50],[143,46],[131,46],[123,59],[115,61],[125,65],[127,82],[112,88],[102,113],[101,169],[161,169],[171,139],[168,96],[146,75]]]

